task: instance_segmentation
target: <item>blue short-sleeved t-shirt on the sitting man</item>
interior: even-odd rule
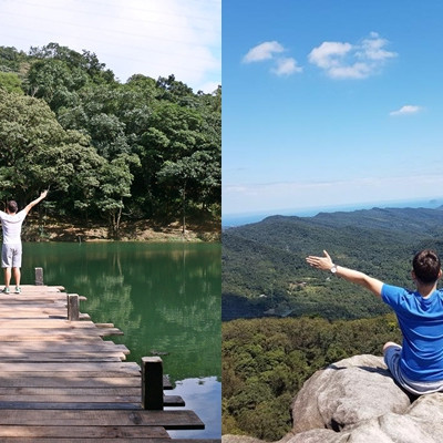
[[[443,290],[423,298],[383,285],[381,297],[395,311],[403,333],[401,372],[413,381],[443,380]]]

